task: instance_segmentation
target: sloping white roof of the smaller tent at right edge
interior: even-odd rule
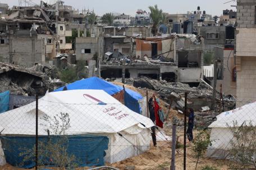
[[[228,128],[228,126],[234,126],[234,122],[237,122],[238,127],[242,124],[248,125],[250,122],[256,126],[255,110],[256,102],[253,102],[234,110],[223,112],[217,116],[217,120],[209,128]]]

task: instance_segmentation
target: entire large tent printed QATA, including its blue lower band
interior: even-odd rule
[[[97,95],[92,91],[71,93],[48,93],[38,100],[38,106],[33,102],[0,115],[2,154],[9,164],[24,168],[36,164],[103,166],[150,148],[154,124],[148,117],[102,91]]]

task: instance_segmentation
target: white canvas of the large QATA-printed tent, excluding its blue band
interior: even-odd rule
[[[33,102],[0,114],[2,134],[35,135],[35,105]],[[43,117],[53,117],[62,112],[68,113],[70,117],[70,128],[65,134],[108,136],[106,162],[113,163],[134,157],[149,149],[149,128],[154,126],[153,122],[129,110],[102,90],[47,93],[39,99],[38,108],[39,135],[47,135],[45,129],[51,129],[49,121],[45,121]]]

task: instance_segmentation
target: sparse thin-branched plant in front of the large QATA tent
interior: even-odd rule
[[[48,133],[48,138],[40,140],[38,143],[38,165],[44,166],[51,164],[59,167],[59,169],[74,169],[77,166],[75,155],[70,155],[67,152],[68,136],[66,130],[70,128],[70,117],[67,113],[60,113],[56,116],[44,116],[44,126]],[[24,157],[24,162],[29,160],[35,161],[35,145],[31,149],[22,149],[20,153]]]

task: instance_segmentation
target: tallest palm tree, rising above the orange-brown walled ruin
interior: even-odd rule
[[[164,22],[165,16],[162,10],[159,10],[157,4],[155,6],[149,6],[150,18],[153,21],[152,25],[152,34],[153,36],[157,35],[158,26]]]

